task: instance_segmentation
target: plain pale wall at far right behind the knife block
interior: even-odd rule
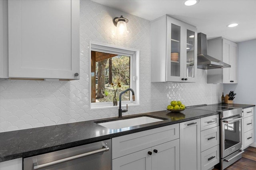
[[[224,94],[236,93],[234,103],[256,105],[256,39],[238,43],[238,84],[224,84]],[[254,122],[256,116],[254,115]],[[256,123],[254,144],[256,147]]]

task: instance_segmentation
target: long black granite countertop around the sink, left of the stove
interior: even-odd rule
[[[186,109],[180,113],[172,113],[168,110],[164,110],[128,115],[121,119],[142,115],[164,119],[164,121],[133,126],[130,127],[129,130],[127,130],[127,128],[113,130],[94,123],[95,121],[104,122],[106,120],[118,119],[117,117],[111,117],[106,119],[3,132],[0,133],[0,162],[76,147],[104,139],[111,139],[113,137],[216,114],[218,114],[216,111]]]

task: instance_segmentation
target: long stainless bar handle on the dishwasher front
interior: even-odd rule
[[[68,162],[70,160],[82,158],[84,156],[89,156],[89,155],[92,155],[92,154],[105,152],[105,151],[108,151],[108,150],[109,150],[109,147],[106,147],[106,148],[103,148],[103,149],[94,150],[94,151],[91,151],[91,152],[87,152],[87,153],[84,153],[84,154],[79,154],[79,155],[76,155],[76,156],[71,156],[71,157],[68,157],[68,158],[60,159],[60,160],[55,160],[55,161],[48,162],[48,163],[41,164],[41,165],[38,165],[37,162],[35,162],[33,164],[33,167],[34,167],[34,170],[39,170],[39,169],[42,169],[42,168],[46,168],[48,166],[53,166],[53,165],[60,164],[60,163],[63,163],[63,162]]]

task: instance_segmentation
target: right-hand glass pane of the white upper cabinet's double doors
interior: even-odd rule
[[[190,31],[189,29],[187,29],[187,41],[186,41],[186,74],[187,74],[187,78],[188,77],[194,77],[194,70],[195,70],[195,32],[194,31]]]

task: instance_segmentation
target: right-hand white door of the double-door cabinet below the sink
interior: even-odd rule
[[[152,147],[152,170],[180,169],[180,140]]]

